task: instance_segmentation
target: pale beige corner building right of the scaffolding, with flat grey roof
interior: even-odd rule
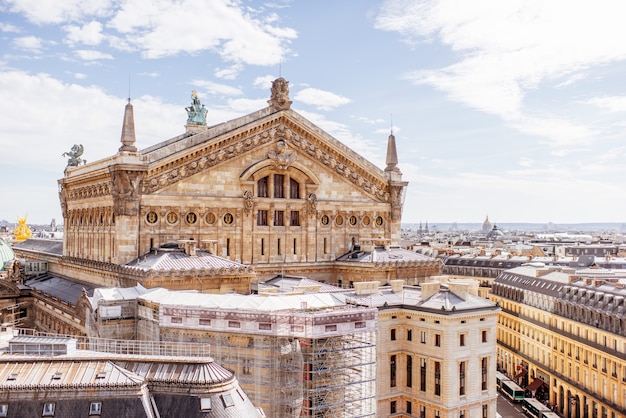
[[[500,308],[478,296],[477,282],[360,283],[346,301],[379,310],[377,416],[496,416]]]

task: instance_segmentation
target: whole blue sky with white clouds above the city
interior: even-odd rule
[[[598,0],[0,0],[0,220],[62,220],[73,144],[144,148],[292,108],[384,168],[405,222],[626,221],[626,3]]]

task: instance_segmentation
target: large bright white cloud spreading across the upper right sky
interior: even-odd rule
[[[415,84],[561,147],[569,135],[576,143],[593,140],[594,129],[558,116],[564,103],[547,113],[534,109],[528,94],[581,83],[588,69],[625,60],[624,12],[626,6],[609,0],[594,7],[567,0],[388,0],[376,27],[413,45],[438,41],[454,52],[455,63],[408,73]],[[537,124],[529,127],[529,120]]]

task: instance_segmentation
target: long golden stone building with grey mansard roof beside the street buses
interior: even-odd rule
[[[618,270],[529,263],[491,299],[498,367],[568,418],[626,416],[626,278]]]

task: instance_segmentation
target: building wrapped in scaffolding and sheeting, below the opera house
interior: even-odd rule
[[[106,351],[205,347],[267,416],[374,417],[376,308],[330,302],[311,308],[313,301],[302,298],[299,309],[272,297],[264,299],[269,309],[251,308],[247,299],[228,307],[168,298],[101,301],[98,316],[88,318],[89,341]]]

